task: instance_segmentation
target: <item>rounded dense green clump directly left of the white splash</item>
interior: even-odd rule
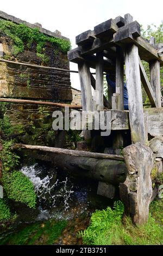
[[[9,199],[24,203],[30,208],[35,208],[36,195],[34,192],[34,186],[32,182],[30,182],[29,178],[22,174],[22,172],[3,172],[1,181]]]

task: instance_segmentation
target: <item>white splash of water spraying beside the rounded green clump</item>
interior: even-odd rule
[[[31,166],[23,166],[21,168],[21,172],[26,175],[30,181],[34,184],[35,192],[39,201],[41,203],[42,200],[51,201],[51,207],[55,207],[57,200],[61,200],[64,204],[64,210],[67,211],[70,206],[68,202],[71,200],[71,195],[74,193],[73,184],[69,186],[68,178],[65,180],[59,181],[56,180],[54,183],[51,182],[53,175],[46,175],[41,178],[41,173],[43,168],[37,166],[37,164]],[[59,188],[59,190],[58,190]]]

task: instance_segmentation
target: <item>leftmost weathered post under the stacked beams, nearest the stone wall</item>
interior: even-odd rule
[[[82,92],[82,107],[84,111],[92,111],[91,74],[87,63],[78,64],[79,80]],[[91,139],[91,131],[84,131],[85,140]]]

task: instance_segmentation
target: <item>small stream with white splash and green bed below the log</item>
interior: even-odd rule
[[[21,171],[34,184],[37,207],[18,204],[18,216],[3,227],[0,245],[82,245],[77,233],[89,225],[92,212],[114,203],[96,194],[98,182],[70,178],[44,162]]]

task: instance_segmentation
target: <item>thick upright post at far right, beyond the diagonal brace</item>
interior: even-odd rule
[[[161,85],[160,85],[160,62],[149,62],[149,70],[151,75],[151,87],[156,98],[156,106],[161,108]]]

